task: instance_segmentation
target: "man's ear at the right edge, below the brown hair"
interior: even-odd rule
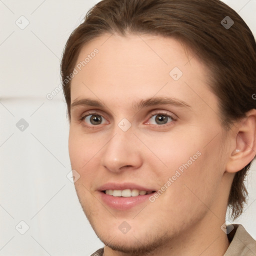
[[[235,147],[231,149],[225,170],[237,172],[245,167],[256,154],[256,109],[251,109],[235,125]]]

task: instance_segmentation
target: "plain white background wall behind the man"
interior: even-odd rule
[[[60,83],[69,34],[96,2],[0,0],[0,256],[90,255],[102,246],[66,177],[71,168],[63,94],[46,98]],[[224,2],[255,35],[256,0]],[[15,24],[21,15],[29,21],[24,29]],[[21,118],[29,125],[24,131],[16,127]],[[253,165],[249,206],[236,221],[254,238],[255,183]],[[15,229],[21,220],[29,225],[23,235]]]

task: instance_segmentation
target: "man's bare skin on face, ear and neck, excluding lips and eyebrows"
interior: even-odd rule
[[[224,130],[209,70],[173,38],[104,34],[81,49],[77,63],[94,48],[98,54],[72,78],[71,104],[90,98],[103,106],[71,107],[69,155],[83,211],[107,244],[104,255],[223,255],[229,243],[220,226],[231,182],[255,155],[255,112]],[[177,81],[169,75],[173,67],[183,72]],[[189,107],[133,107],[156,97]],[[102,122],[91,124],[91,112]],[[173,119],[157,125],[159,113]],[[118,126],[123,118],[131,123],[125,132]],[[101,201],[97,189],[110,181],[160,189],[198,151],[154,202],[116,210]],[[123,221],[131,227],[125,234],[118,228]]]

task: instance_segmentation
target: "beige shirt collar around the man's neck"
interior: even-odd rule
[[[233,224],[234,229],[227,235],[230,242],[223,256],[256,256],[256,241],[242,225]],[[90,256],[103,256],[104,249],[98,249]]]

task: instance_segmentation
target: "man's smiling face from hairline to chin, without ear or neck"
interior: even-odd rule
[[[206,67],[173,38],[105,34],[75,68],[69,155],[98,237],[152,250],[213,221],[225,155]]]

